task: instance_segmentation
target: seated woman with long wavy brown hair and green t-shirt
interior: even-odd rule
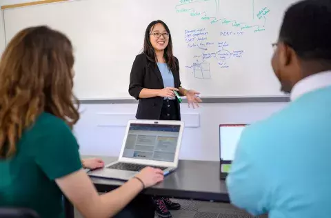
[[[22,30],[3,52],[0,206],[59,218],[63,193],[84,217],[113,217],[143,188],[163,180],[161,170],[144,168],[120,188],[98,195],[82,169],[71,131],[79,120],[73,66],[70,40],[46,26]]]

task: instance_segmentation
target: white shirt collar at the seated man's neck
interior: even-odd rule
[[[308,92],[312,92],[326,86],[331,86],[331,71],[319,72],[317,74],[310,75],[309,77],[305,77],[297,82],[297,84],[295,84],[292,88],[291,101],[298,99]]]

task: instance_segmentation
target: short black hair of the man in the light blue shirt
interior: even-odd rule
[[[279,41],[304,60],[331,60],[331,1],[304,0],[285,12]]]

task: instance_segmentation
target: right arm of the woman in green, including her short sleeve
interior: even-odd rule
[[[50,181],[57,183],[83,217],[113,217],[143,187],[148,188],[163,180],[162,170],[144,168],[136,175],[140,180],[131,179],[120,188],[99,196],[82,169],[79,146],[69,126],[56,117],[50,117],[44,123],[46,128],[52,125],[52,129],[37,138],[34,161]]]

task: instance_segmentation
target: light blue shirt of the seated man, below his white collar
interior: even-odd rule
[[[232,204],[269,218],[331,216],[331,86],[243,130],[226,180]]]

